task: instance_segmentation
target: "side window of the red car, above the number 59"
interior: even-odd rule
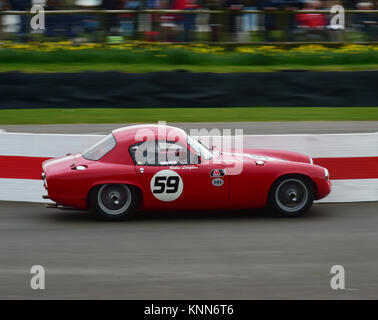
[[[190,152],[186,147],[170,141],[145,141],[132,145],[130,155],[139,166],[174,166],[189,163]]]

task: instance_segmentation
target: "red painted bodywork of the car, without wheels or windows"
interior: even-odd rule
[[[311,181],[314,199],[325,197],[331,190],[327,170],[313,165],[308,156],[253,149],[233,154],[207,150],[203,156],[184,131],[166,128],[163,138],[156,125],[115,130],[108,142],[103,143],[105,146],[94,148],[94,153],[103,148],[99,159],[90,151],[89,156],[83,153],[45,161],[43,178],[48,198],[62,206],[90,209],[88,196],[93,188],[122,184],[140,191],[138,207],[143,209],[255,208],[267,205],[272,185],[284,176],[300,176]],[[133,158],[141,143],[164,140],[175,147],[180,145],[189,157],[198,161],[146,164]],[[165,146],[164,152],[171,152],[171,147]],[[233,162],[228,161],[231,158]],[[235,166],[242,168],[237,174],[232,173]]]

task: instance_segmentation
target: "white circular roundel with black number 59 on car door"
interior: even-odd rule
[[[184,189],[180,175],[172,170],[161,170],[151,179],[151,192],[156,199],[170,202],[178,199]]]

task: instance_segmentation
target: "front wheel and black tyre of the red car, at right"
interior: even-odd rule
[[[296,217],[306,213],[314,202],[313,182],[303,176],[286,176],[274,182],[269,203],[280,216]]]

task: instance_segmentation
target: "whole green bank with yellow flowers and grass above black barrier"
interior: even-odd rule
[[[378,67],[378,46],[346,45],[327,48],[302,45],[282,49],[274,46],[223,47],[207,45],[129,43],[111,47],[34,43],[0,46],[0,71],[146,72],[186,69],[190,71],[239,72],[304,70],[368,70]]]

